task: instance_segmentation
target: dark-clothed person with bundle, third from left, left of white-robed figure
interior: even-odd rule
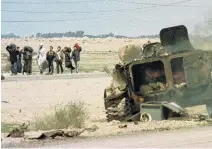
[[[26,73],[27,75],[32,74],[32,53],[33,48],[30,46],[25,46],[22,50],[23,54],[23,60],[24,60],[24,68],[23,68],[23,74]]]

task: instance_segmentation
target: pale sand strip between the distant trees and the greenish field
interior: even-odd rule
[[[73,47],[76,42],[80,43],[80,45],[83,47],[83,51],[117,51],[120,46],[123,46],[125,44],[144,44],[148,40],[151,42],[159,41],[159,39],[118,39],[118,38],[29,38],[29,39],[2,39],[1,40],[1,48],[2,53],[6,52],[5,47],[6,45],[10,43],[17,44],[20,47],[23,46],[31,46],[35,49],[35,51],[38,50],[39,44],[43,43],[44,48],[49,49],[49,46],[52,45],[54,49],[57,48],[57,46],[65,47]]]

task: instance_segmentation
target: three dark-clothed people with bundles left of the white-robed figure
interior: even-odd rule
[[[17,47],[15,44],[10,44],[6,47],[10,55],[11,72],[12,75],[17,73],[32,73],[32,53],[33,49],[30,46],[25,46],[23,49]],[[23,57],[23,65],[22,65]]]

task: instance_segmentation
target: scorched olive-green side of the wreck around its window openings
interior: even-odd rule
[[[165,75],[166,75],[166,80],[168,83],[168,88],[165,91],[160,91],[160,92],[155,92],[152,94],[152,99],[153,100],[158,100],[158,101],[173,101],[176,102],[177,104],[181,105],[182,107],[187,107],[187,106],[195,106],[195,105],[200,105],[200,104],[212,104],[212,83],[211,83],[211,67],[207,69],[204,75],[208,77],[203,77],[198,80],[198,82],[193,81],[195,80],[196,77],[199,77],[199,75],[202,75],[202,66],[203,64],[211,65],[211,53],[210,52],[205,52],[205,51],[191,51],[191,52],[184,52],[184,53],[178,53],[178,54],[173,54],[170,56],[164,56],[164,57],[154,57],[154,58],[148,58],[148,59],[143,59],[139,61],[134,61],[129,65],[129,71],[130,71],[130,85],[132,92],[134,92],[134,82],[133,82],[133,75],[132,75],[132,67],[133,65],[136,64],[145,64],[149,62],[154,62],[154,61],[159,61],[161,60],[164,63],[165,67]],[[171,60],[174,58],[178,57],[183,57],[183,58],[190,58],[190,64],[193,61],[197,62],[197,59],[195,56],[201,56],[205,55],[207,58],[207,61],[204,61],[200,63],[198,67],[192,67],[190,69],[189,66],[187,66],[185,71],[187,71],[187,76],[186,79],[191,82],[189,86],[183,88],[183,89],[177,89],[174,87],[174,82],[173,82],[173,72],[171,69]],[[191,59],[193,57],[193,59]],[[196,75],[190,76],[190,74],[196,73]],[[190,83],[187,81],[187,83]],[[193,85],[193,86],[192,86]],[[138,94],[139,95],[139,94]]]

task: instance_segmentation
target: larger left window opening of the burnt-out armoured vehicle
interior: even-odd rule
[[[166,76],[162,61],[136,64],[132,67],[135,92],[145,94],[165,90]]]

